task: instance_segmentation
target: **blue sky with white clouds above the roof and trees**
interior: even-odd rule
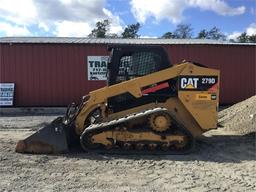
[[[256,34],[256,0],[0,0],[0,37],[86,37],[104,19],[119,35],[139,22],[141,38],[190,24],[194,36],[216,26],[235,39]]]

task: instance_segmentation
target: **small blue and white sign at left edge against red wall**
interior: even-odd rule
[[[14,83],[0,83],[0,106],[12,106]]]

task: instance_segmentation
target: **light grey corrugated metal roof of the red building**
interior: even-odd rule
[[[121,38],[79,38],[79,37],[0,37],[0,43],[74,43],[74,44],[218,44],[218,45],[256,45],[256,43],[231,43],[210,39],[121,39]]]

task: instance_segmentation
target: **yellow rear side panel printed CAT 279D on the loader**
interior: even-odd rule
[[[217,127],[219,76],[218,70],[191,66],[179,77],[179,99],[203,130]]]

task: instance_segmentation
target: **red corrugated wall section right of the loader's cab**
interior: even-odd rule
[[[220,102],[233,104],[256,94],[256,46],[166,46],[172,63],[183,59],[220,69]]]

